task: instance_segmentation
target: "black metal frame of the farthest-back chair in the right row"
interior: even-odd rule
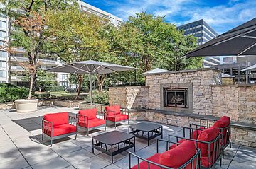
[[[206,121],[205,123],[203,123],[204,121]],[[200,124],[189,124],[189,127],[191,128],[195,128],[198,129],[200,127],[203,127],[203,129],[207,129],[210,127],[210,123],[209,122],[216,122],[217,120],[213,120],[213,119],[200,119]],[[205,125],[203,125],[205,124]],[[230,135],[231,135],[231,125],[229,124],[227,127],[223,127],[223,128],[220,128],[220,127],[216,127],[217,129],[220,129],[220,138],[221,138],[221,141],[224,140],[224,136],[223,136],[223,131],[226,131],[226,134],[225,134],[225,144],[221,144],[221,150],[223,151],[223,158],[224,158],[224,150],[225,148],[228,146],[228,144],[230,145],[230,148],[232,146],[232,142],[231,142],[231,139],[230,139]]]

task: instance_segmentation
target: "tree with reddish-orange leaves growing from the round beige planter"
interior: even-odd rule
[[[30,76],[28,99],[31,98],[36,84],[36,74],[39,59],[47,54],[48,37],[45,34],[47,30],[45,22],[45,13],[49,10],[63,10],[69,4],[75,4],[75,1],[64,0],[0,0],[0,3],[6,4],[6,8],[1,13],[7,14],[14,23],[11,27],[14,30],[11,33],[9,51],[22,47],[26,50],[28,62],[21,64],[28,71]]]

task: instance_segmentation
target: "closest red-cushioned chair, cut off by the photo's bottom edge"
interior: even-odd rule
[[[176,144],[176,147],[171,150],[166,150],[164,153],[159,153],[159,141],[166,142],[166,145]],[[132,169],[201,168],[200,150],[196,148],[193,141],[183,141],[182,144],[178,144],[157,139],[157,153],[149,158],[144,159],[129,152],[129,168],[131,168],[131,156],[137,158],[137,165],[134,165]]]

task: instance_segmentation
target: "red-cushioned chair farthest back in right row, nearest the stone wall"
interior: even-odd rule
[[[210,125],[210,124],[212,124],[212,125]],[[228,145],[230,145],[230,148],[231,148],[230,117],[223,116],[219,120],[201,119],[200,124],[190,124],[190,127],[200,128],[200,129],[207,129],[210,126],[218,128],[220,130],[221,150],[223,151],[223,158],[224,158],[224,149]]]

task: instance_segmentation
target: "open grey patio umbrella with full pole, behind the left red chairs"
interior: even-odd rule
[[[129,71],[136,68],[122,66],[118,64],[109,64],[106,62],[97,62],[93,60],[73,62],[63,66],[58,66],[46,71],[63,72],[71,74],[89,74],[90,76],[90,105],[92,107],[92,74],[110,74],[118,71]]]

